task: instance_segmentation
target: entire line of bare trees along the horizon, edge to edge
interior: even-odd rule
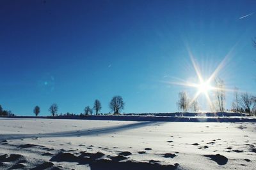
[[[221,81],[221,87],[224,86],[224,81]],[[219,85],[220,86],[220,85]],[[166,116],[166,117],[197,117],[197,116],[206,116],[206,117],[230,117],[230,116],[245,116],[247,115],[256,115],[256,97],[252,96],[247,92],[239,92],[235,87],[234,90],[234,101],[232,102],[232,109],[225,109],[225,88],[218,88],[216,90],[216,106],[211,106],[211,113],[199,113],[200,105],[196,99],[192,100],[185,91],[179,92],[179,101],[177,102],[178,108],[182,110],[182,113],[129,113],[125,115],[154,115],[154,116]],[[72,117],[72,116],[87,116],[87,115],[120,115],[121,111],[124,110],[124,101],[121,96],[114,96],[109,102],[109,109],[112,112],[109,113],[100,113],[102,106],[98,99],[95,99],[93,107],[85,106],[84,113],[58,113],[58,104],[51,104],[48,111],[51,114],[51,117]],[[193,113],[188,113],[188,110],[191,110]],[[231,111],[232,113],[227,113]],[[40,114],[40,107],[35,106],[33,113],[36,117]],[[0,116],[1,117],[13,117],[15,116],[12,111],[3,110],[0,105]]]

